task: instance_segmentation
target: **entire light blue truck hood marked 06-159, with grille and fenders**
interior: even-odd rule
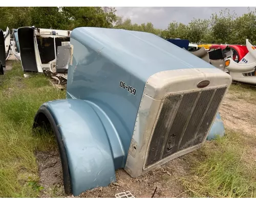
[[[120,168],[140,176],[224,131],[229,74],[151,33],[76,28],[70,43],[67,99],[33,123],[52,127],[66,193],[108,186]]]

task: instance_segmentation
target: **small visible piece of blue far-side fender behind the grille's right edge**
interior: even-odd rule
[[[216,139],[217,135],[223,137],[225,134],[224,124],[221,119],[220,113],[217,114],[214,124],[212,124],[211,129],[208,133],[207,140]]]

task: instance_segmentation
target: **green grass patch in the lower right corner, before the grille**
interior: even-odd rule
[[[228,130],[225,137],[207,142],[191,156],[190,174],[180,178],[186,193],[191,197],[256,197],[255,141],[255,136]]]

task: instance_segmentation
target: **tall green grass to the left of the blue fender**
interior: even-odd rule
[[[0,197],[36,197],[40,186],[35,150],[56,148],[53,137],[32,135],[42,103],[65,98],[44,75],[24,78],[20,63],[0,75]]]

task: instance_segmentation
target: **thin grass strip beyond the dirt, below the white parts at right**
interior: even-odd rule
[[[254,103],[256,100],[256,87],[240,83],[231,84],[228,92],[232,95],[232,99],[245,99],[249,103]]]

